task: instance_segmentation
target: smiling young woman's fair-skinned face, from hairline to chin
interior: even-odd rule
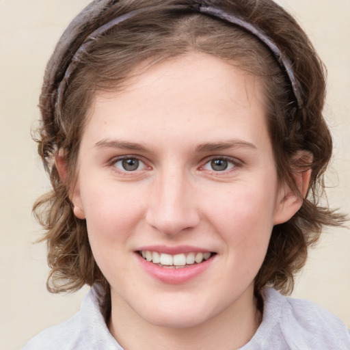
[[[190,53],[96,95],[72,202],[112,312],[191,327],[246,310],[287,197],[260,85],[239,68]]]

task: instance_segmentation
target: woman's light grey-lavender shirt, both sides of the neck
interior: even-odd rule
[[[256,334],[241,350],[350,350],[347,327],[332,313],[304,299],[263,291],[264,314]],[[23,350],[123,350],[100,313],[98,286],[73,317],[32,338]]]

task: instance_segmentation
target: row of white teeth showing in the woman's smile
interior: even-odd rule
[[[154,264],[163,265],[163,267],[180,268],[185,265],[200,264],[203,260],[208,260],[211,257],[210,252],[205,253],[187,253],[170,255],[159,252],[150,252],[149,250],[140,252],[142,258],[147,261],[152,261]]]

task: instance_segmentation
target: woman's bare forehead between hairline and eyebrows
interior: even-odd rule
[[[87,123],[89,137],[164,141],[259,139],[266,130],[260,81],[223,60],[189,53],[138,66],[122,92],[99,92]],[[131,132],[132,131],[132,132]],[[148,134],[147,134],[148,133]],[[266,136],[266,135],[265,135]]]

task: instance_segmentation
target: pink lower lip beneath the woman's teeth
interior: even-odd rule
[[[214,260],[214,256],[211,256],[211,258],[200,262],[200,264],[193,264],[179,269],[169,269],[166,267],[160,267],[159,265],[153,264],[153,262],[145,260],[138,253],[135,254],[147,273],[149,273],[153,278],[167,284],[185,283],[193,278],[196,278],[196,276],[208,269]]]

